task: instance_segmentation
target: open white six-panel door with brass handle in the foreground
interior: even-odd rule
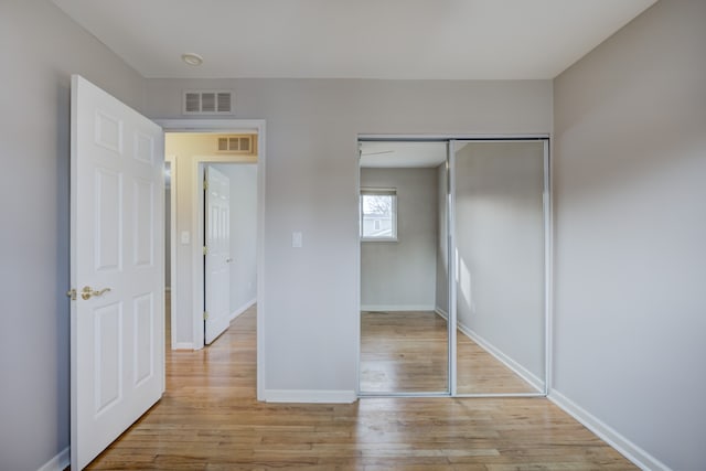
[[[164,390],[163,147],[159,126],[72,77],[74,470]]]

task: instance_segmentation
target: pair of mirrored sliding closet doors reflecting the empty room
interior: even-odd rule
[[[361,393],[541,393],[544,142],[362,141],[360,162]]]

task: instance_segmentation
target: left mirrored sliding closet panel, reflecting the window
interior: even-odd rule
[[[449,394],[447,142],[360,150],[360,390]]]

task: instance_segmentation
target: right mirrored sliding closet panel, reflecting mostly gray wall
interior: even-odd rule
[[[547,141],[453,141],[451,161],[453,392],[543,393]]]

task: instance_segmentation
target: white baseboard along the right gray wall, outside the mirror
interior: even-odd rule
[[[640,469],[670,471],[670,468],[666,464],[644,451],[642,448],[638,447],[635,443],[620,435],[613,428],[603,424],[598,417],[593,416],[568,397],[564,396],[558,390],[549,390],[549,395],[547,397],[560,409],[581,422],[587,429],[596,433]]]

